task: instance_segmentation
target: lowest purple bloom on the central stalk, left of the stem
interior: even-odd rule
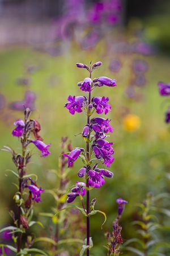
[[[84,196],[86,194],[86,184],[84,182],[76,182],[76,186],[71,189],[71,193],[67,194],[67,203],[72,203],[79,195]]]

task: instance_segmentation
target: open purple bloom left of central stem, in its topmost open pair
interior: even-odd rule
[[[83,105],[84,105],[84,100],[85,100],[85,97],[83,96],[69,96],[67,98],[68,101],[70,102],[67,102],[65,104],[66,108],[69,109],[69,112],[70,114],[74,115],[75,112],[82,112],[82,108],[83,108]]]

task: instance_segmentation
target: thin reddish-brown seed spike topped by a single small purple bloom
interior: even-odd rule
[[[118,198],[116,202],[118,204],[118,214],[116,219],[113,221],[113,232],[108,232],[106,234],[108,239],[107,255],[109,256],[119,256],[121,254],[120,246],[124,242],[121,237],[122,227],[119,225],[118,221],[120,220],[125,209],[125,204],[128,204],[128,201],[123,200],[122,198]]]

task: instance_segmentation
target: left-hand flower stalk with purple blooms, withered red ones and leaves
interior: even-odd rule
[[[43,139],[39,134],[41,130],[40,123],[35,119],[29,119],[30,115],[31,110],[25,108],[24,120],[18,119],[14,122],[16,127],[12,131],[12,135],[19,138],[21,152],[15,152],[12,148],[7,146],[4,146],[2,149],[12,154],[12,161],[18,171],[8,170],[18,179],[18,184],[14,183],[17,192],[13,197],[18,208],[18,213],[16,213],[15,210],[10,210],[10,216],[14,221],[14,225],[7,226],[0,230],[0,233],[8,231],[8,234],[12,235],[11,240],[13,240],[15,246],[1,244],[3,255],[6,255],[6,248],[16,253],[16,255],[28,255],[30,253],[46,255],[43,251],[32,248],[34,237],[30,235],[27,236],[27,230],[31,226],[35,224],[42,225],[41,222],[33,221],[32,217],[33,207],[36,203],[41,201],[41,193],[44,192],[44,189],[37,185],[37,176],[35,174],[27,174],[27,165],[32,156],[28,146],[31,143],[35,144],[44,157],[50,154],[48,150],[50,144],[47,145],[42,142]],[[35,137],[34,139],[32,135]]]

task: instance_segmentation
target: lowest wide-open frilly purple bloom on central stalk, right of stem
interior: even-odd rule
[[[88,185],[94,188],[100,188],[104,183],[104,177],[102,172],[96,172],[94,170],[88,171],[89,179],[88,179]]]

